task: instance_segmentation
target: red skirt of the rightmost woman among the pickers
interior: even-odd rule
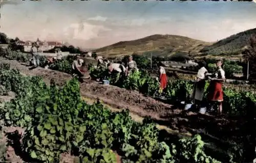
[[[209,85],[208,100],[209,101],[223,101],[222,82],[211,81]]]

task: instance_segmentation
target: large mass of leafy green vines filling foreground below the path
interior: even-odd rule
[[[123,162],[175,162],[180,159],[176,151],[183,149],[159,142],[159,131],[150,119],[146,118],[140,124],[132,121],[127,110],[116,113],[99,102],[88,105],[82,101],[76,79],[62,88],[56,87],[53,81],[51,86],[46,86],[40,78],[24,77],[7,69],[8,65],[0,66],[1,78],[4,79],[1,84],[17,94],[15,100],[5,104],[5,109],[1,108],[0,115],[6,124],[11,122],[9,124],[27,128],[22,149],[36,162],[58,161],[64,152],[73,152],[85,162],[116,162],[117,158],[110,149],[120,151]],[[7,81],[29,84],[15,86],[8,85]],[[8,105],[9,118],[6,118]],[[12,109],[20,113],[10,111]],[[30,119],[23,122],[26,117]],[[198,139],[191,142],[199,144]],[[194,150],[197,148],[189,148],[187,152],[198,153]],[[190,160],[197,159],[193,156],[189,157]],[[211,162],[214,160],[207,158]]]

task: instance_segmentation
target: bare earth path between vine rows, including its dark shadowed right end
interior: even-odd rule
[[[37,67],[29,70],[25,63],[14,60],[0,58],[0,62],[10,63],[11,68],[18,69],[24,75],[41,76],[47,84],[53,79],[57,85],[62,86],[67,80],[72,79],[69,74],[51,69]],[[104,105],[109,106],[112,111],[127,108],[136,121],[142,121],[143,117],[150,116],[158,123],[158,128],[165,129],[167,132],[172,132],[172,134],[187,133],[187,135],[190,135],[190,133],[200,133],[205,135],[204,138],[207,139],[208,144],[211,144],[212,150],[217,146],[225,146],[227,142],[240,139],[243,132],[241,129],[245,123],[244,118],[241,117],[216,118],[191,111],[184,112],[175,106],[145,97],[138,91],[111,85],[103,86],[93,80],[85,80],[84,83],[80,84],[80,94],[89,103],[99,99]],[[226,149],[218,150],[225,153]]]

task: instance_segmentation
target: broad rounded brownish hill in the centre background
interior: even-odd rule
[[[120,41],[97,49],[99,55],[121,57],[127,54],[145,54],[153,52],[154,56],[167,57],[176,52],[198,54],[205,45],[211,43],[178,35],[151,35],[132,41]]]

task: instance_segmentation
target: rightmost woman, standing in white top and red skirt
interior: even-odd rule
[[[210,108],[213,109],[213,103],[218,102],[218,113],[222,113],[222,102],[223,102],[223,90],[222,85],[225,81],[225,72],[222,69],[222,60],[216,62],[217,69],[213,75],[214,78],[210,79],[208,100],[210,101]]]

